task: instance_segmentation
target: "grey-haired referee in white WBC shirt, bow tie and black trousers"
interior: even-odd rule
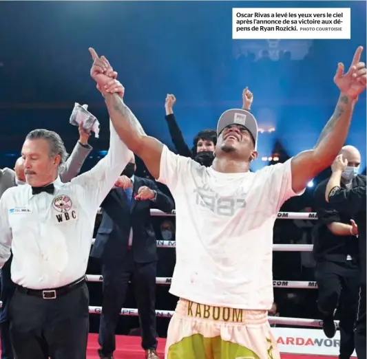
[[[99,71],[96,67],[105,67],[98,61],[102,63],[94,61],[92,75]],[[112,71],[107,74],[114,76]],[[123,94],[117,80],[98,76],[99,85]],[[0,200],[0,268],[12,249],[11,274],[17,285],[10,303],[14,355],[85,359],[89,331],[85,270],[94,221],[132,152],[111,123],[107,155],[71,182],[59,178],[66,151],[57,133],[30,132],[22,156],[28,184],[9,188]]]

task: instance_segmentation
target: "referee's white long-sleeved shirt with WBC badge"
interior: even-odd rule
[[[0,199],[0,268],[12,249],[12,281],[30,289],[61,287],[87,270],[96,213],[132,157],[110,123],[107,155],[92,170],[62,183],[54,195],[28,184]]]

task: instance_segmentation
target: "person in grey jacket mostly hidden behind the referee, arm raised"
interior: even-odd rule
[[[79,140],[59,173],[62,182],[70,182],[80,173],[84,161],[92,151],[92,146],[88,144],[89,137],[90,134],[86,133],[83,127],[79,127]],[[25,174],[23,160],[19,158],[14,166],[14,171],[10,168],[0,169],[0,198],[8,188],[21,184],[25,184]],[[0,312],[1,359],[14,359],[12,343],[10,342],[8,315],[8,306],[15,290],[15,285],[10,277],[11,265],[12,256],[1,268],[1,301],[3,302]]]

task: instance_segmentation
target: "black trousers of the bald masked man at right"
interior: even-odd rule
[[[317,307],[322,319],[339,316],[339,359],[349,359],[355,349],[355,319],[357,318],[360,274],[352,261],[320,261],[315,270],[318,287]]]

